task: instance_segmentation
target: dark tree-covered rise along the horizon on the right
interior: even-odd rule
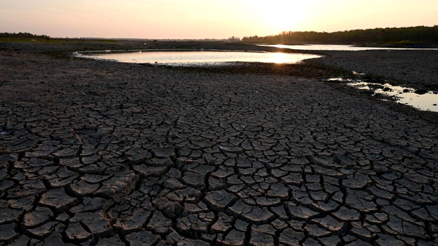
[[[438,44],[438,25],[434,27],[388,27],[356,29],[350,31],[283,31],[271,36],[250,36],[241,42],[263,43],[318,43],[318,44],[357,44],[357,43],[400,43],[400,44]]]

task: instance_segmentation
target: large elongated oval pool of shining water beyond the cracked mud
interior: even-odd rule
[[[249,51],[136,51],[129,53],[83,53],[82,57],[111,59],[129,63],[165,64],[173,66],[204,66],[205,64],[227,64],[232,61],[294,64],[320,55],[266,53]]]

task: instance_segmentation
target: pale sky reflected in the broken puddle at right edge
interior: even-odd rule
[[[332,79],[332,81],[333,80],[335,79]],[[434,94],[433,92],[427,92],[426,94],[416,94],[415,89],[412,88],[366,82],[352,82],[348,83],[348,85],[357,87],[362,90],[370,90],[370,85],[378,85],[380,87],[383,86],[383,89],[378,88],[374,92],[376,94],[384,94],[386,96],[395,96],[397,98],[397,102],[404,105],[410,105],[412,107],[425,111],[438,112],[438,94]]]

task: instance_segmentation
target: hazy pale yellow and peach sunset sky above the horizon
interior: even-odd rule
[[[438,0],[0,0],[0,32],[229,38],[438,25]]]

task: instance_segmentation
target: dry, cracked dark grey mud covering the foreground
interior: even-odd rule
[[[260,72],[0,51],[0,244],[438,245],[432,114]]]

